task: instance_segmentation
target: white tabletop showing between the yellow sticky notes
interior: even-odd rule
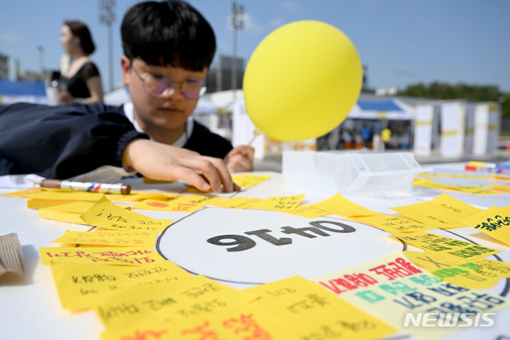
[[[462,164],[436,164],[426,169],[441,173],[460,173]],[[303,188],[285,185],[283,175],[276,172],[271,179],[240,193],[222,194],[268,198],[307,193]],[[436,179],[434,179],[436,180]],[[437,179],[440,181],[440,179]],[[467,179],[448,179],[450,184],[476,184]],[[147,184],[132,181],[133,189],[183,193],[182,183]],[[8,192],[12,189],[1,189]],[[383,213],[393,213],[390,207],[408,205],[430,200],[441,191],[414,187],[408,192],[385,191],[379,193],[356,193],[344,196],[363,207]],[[475,205],[489,208],[510,204],[510,194],[475,196],[448,193],[450,196]],[[316,203],[328,198],[330,193],[307,193],[303,203]],[[173,219],[174,222],[159,235],[157,250],[166,259],[174,261],[192,273],[214,278],[234,288],[248,288],[259,283],[272,282],[289,276],[300,275],[313,278],[331,273],[385,255],[394,249],[403,250],[402,242],[388,237],[380,229],[361,225],[344,218],[329,215],[312,219],[324,223],[341,222],[356,228],[356,232],[336,234],[331,237],[306,238],[292,236],[292,244],[275,246],[255,237],[256,246],[247,251],[228,252],[224,246],[205,242],[212,236],[244,234],[257,229],[269,229],[274,237],[283,237],[280,227],[307,226],[310,219],[266,210],[236,210],[206,207],[193,213],[135,210],[155,218]],[[0,234],[17,232],[23,247],[27,280],[23,284],[0,285],[0,340],[12,339],[99,339],[103,326],[94,312],[72,313],[60,305],[52,279],[50,266],[40,263],[39,247],[55,246],[52,240],[65,230],[86,231],[90,226],[47,220],[38,216],[37,210],[26,208],[26,198],[0,197]],[[510,263],[510,248],[494,243],[485,234],[466,227],[453,230],[435,229],[431,232],[455,239],[468,240],[494,249],[502,261]],[[289,237],[286,235],[285,237]],[[404,245],[407,246],[407,245]],[[407,246],[409,250],[419,250]],[[492,259],[492,257],[490,257]],[[256,260],[256,261],[255,261]],[[509,297],[510,279],[500,279],[490,293]],[[499,312],[494,327],[470,328],[459,331],[446,339],[497,339],[510,337],[510,308]],[[503,322],[501,320],[506,320]],[[410,339],[397,336],[398,339]],[[395,338],[395,336],[394,336]],[[396,338],[395,338],[396,339]],[[503,338],[502,338],[503,339]],[[508,338],[504,338],[508,339]]]

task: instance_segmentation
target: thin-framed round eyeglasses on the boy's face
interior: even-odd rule
[[[179,85],[181,94],[188,99],[198,99],[205,94],[206,88],[203,79],[187,78],[183,81],[174,81],[168,79],[168,77],[163,74],[152,74],[148,72],[140,76],[135,67],[132,65],[131,67],[138,78],[143,81],[147,94],[153,97],[162,98],[164,96],[172,96],[176,92],[176,85]]]

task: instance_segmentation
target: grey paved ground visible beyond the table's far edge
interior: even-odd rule
[[[399,150],[392,150],[393,152]],[[510,151],[505,149],[498,149],[491,156],[466,156],[466,157],[441,157],[440,154],[431,154],[429,157],[414,157],[419,164],[434,164],[434,163],[456,163],[456,162],[469,162],[469,161],[480,161],[480,162],[491,162],[499,163],[510,161]],[[255,171],[277,171],[281,172],[281,159],[263,159],[255,160],[254,162]]]

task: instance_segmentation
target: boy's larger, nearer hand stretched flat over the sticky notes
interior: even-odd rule
[[[124,149],[123,164],[151,179],[188,181],[203,191],[233,191],[232,178],[222,159],[201,156],[152,140],[132,140]]]

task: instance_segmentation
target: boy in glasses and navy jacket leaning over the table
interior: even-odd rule
[[[232,149],[189,119],[215,53],[209,23],[182,1],[149,1],[130,8],[121,33],[123,83],[132,103],[4,108],[0,175],[64,179],[110,165],[232,191],[229,171],[251,171],[253,148]]]

